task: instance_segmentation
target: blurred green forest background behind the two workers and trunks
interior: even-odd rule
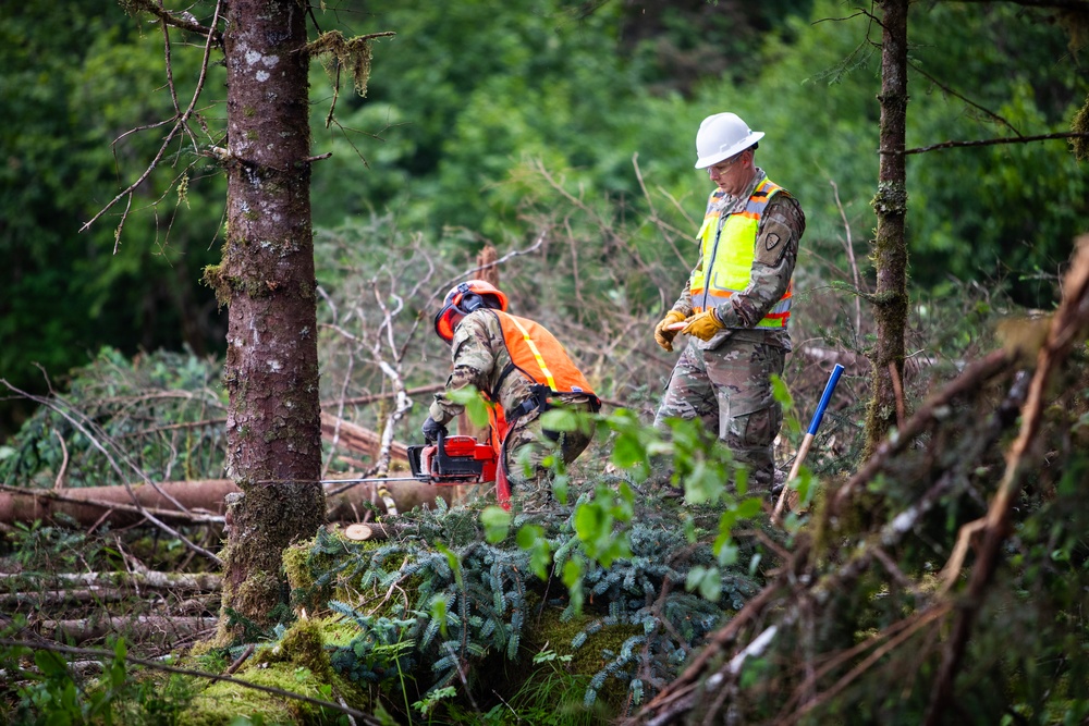
[[[365,97],[346,74],[311,66],[313,152],[332,153],[315,164],[313,186],[323,401],[384,390],[374,364],[386,358],[399,358],[409,387],[441,381],[446,354],[430,315],[491,244],[509,257],[500,281],[513,309],[555,329],[607,398],[652,410],[672,358],[650,325],[684,283],[709,189],[693,169],[694,133],[722,110],[767,133],[757,162],[808,216],[796,344],[865,349],[871,331],[855,292],[872,276],[880,88],[880,28],[865,9],[327,8],[323,30],[396,35],[375,42]],[[222,104],[199,109],[200,153],[171,148],[130,209],[122,202],[83,229],[159,147],[155,124],[172,113],[161,35],[108,0],[0,12],[0,377],[30,393],[49,382],[63,390],[100,350],[100,364],[167,352],[215,371],[227,311],[201,270],[219,261],[225,184],[205,155],[222,139]],[[1069,131],[1089,90],[1077,52],[1086,36],[1056,17],[1015,4],[915,5],[908,147]],[[175,35],[183,102],[199,45]],[[205,99],[221,98],[222,82],[213,64]],[[1089,219],[1067,140],[913,155],[908,192],[913,330],[949,316],[923,335],[925,357],[940,355],[941,336],[964,349],[995,312],[1053,307]],[[377,342],[387,304],[402,349]],[[795,358],[793,370],[808,365]],[[5,396],[0,435],[33,410]],[[414,409],[399,435],[413,435],[421,416]]]

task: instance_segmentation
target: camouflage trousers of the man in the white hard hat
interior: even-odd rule
[[[713,350],[689,343],[665,386],[654,428],[668,418],[700,418],[719,432],[734,460],[749,470],[750,493],[768,493],[775,479],[772,444],[783,407],[771,393],[771,376],[783,374],[786,352],[773,345],[727,339]]]

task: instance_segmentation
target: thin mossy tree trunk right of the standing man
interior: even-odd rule
[[[877,448],[896,424],[895,380],[903,380],[904,337],[907,325],[907,11],[908,0],[881,0],[881,128],[878,218],[873,241],[877,270],[874,319],[878,339],[870,355],[873,364],[872,397],[866,417],[866,455]],[[895,371],[896,379],[893,378]]]

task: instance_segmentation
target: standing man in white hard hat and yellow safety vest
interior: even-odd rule
[[[707,169],[717,188],[697,234],[696,267],[654,329],[666,350],[677,332],[690,336],[656,428],[668,431],[668,418],[702,419],[734,460],[747,466],[754,493],[774,485],[772,444],[783,410],[772,396],[771,377],[782,376],[791,349],[791,278],[806,229],[797,200],[755,165],[762,137],[734,113],[717,113],[700,124],[696,169]]]

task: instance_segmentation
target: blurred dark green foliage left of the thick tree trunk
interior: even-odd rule
[[[184,95],[199,57],[180,50],[173,70]],[[220,345],[225,319],[200,288],[199,270],[218,255],[225,185],[207,164],[188,172],[182,199],[187,164],[171,149],[134,200],[115,254],[124,205],[81,232],[155,156],[155,131],[125,134],[169,118],[162,58],[161,36],[113,2],[4,9],[0,376],[14,385],[40,392],[34,362],[62,379],[103,344],[127,355]],[[179,209],[186,219],[175,224]],[[0,411],[4,430],[13,410]]]

